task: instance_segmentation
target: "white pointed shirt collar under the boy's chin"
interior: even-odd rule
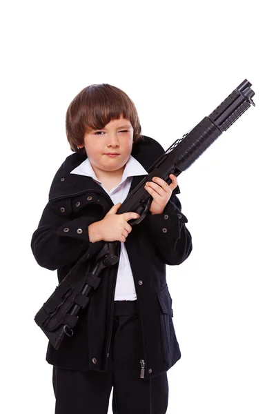
[[[86,175],[87,177],[91,177],[97,181],[97,183],[101,184],[101,181],[97,179],[95,171],[93,170],[88,158],[79,164],[77,168],[74,168],[70,174]],[[132,155],[130,155],[121,177],[121,183],[124,182],[128,177],[134,177],[136,175],[148,175],[148,171],[145,170],[145,168],[139,163],[139,161],[137,161],[137,159],[135,159],[135,157],[132,157]]]

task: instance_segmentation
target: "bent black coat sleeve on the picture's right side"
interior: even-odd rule
[[[193,249],[192,237],[186,228],[188,220],[181,213],[181,203],[174,192],[162,214],[148,213],[144,221],[157,255],[165,264],[181,264],[187,259]]]

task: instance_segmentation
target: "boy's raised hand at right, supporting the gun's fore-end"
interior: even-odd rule
[[[150,213],[151,214],[162,214],[166,204],[168,204],[168,200],[172,195],[172,190],[174,190],[177,186],[177,177],[175,175],[169,175],[172,182],[169,184],[159,177],[153,177],[152,181],[148,181],[144,188],[148,191],[148,193],[152,196],[152,203],[150,204]]]

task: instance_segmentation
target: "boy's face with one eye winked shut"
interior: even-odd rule
[[[133,128],[128,119],[121,117],[110,121],[101,130],[88,130],[83,137],[86,154],[95,174],[99,178],[103,172],[124,171],[124,166],[132,151]],[[117,153],[113,157],[108,153]]]

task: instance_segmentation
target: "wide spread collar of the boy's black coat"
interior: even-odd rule
[[[157,161],[157,159],[164,154],[164,149],[161,145],[155,141],[155,139],[146,137],[144,135],[144,140],[138,141],[132,145],[131,155],[141,166],[148,171],[152,164]],[[91,176],[84,176],[78,174],[71,174],[72,170],[79,167],[83,161],[87,159],[86,154],[79,154],[74,152],[74,154],[69,155],[63,164],[57,170],[49,191],[49,201],[57,198],[70,197],[80,193],[85,193],[86,191],[97,191],[106,195],[106,191],[93,179]],[[148,173],[135,175],[132,179],[132,184],[130,186],[129,193],[139,184],[139,182],[144,179]],[[175,188],[175,194],[180,193],[179,187]]]

